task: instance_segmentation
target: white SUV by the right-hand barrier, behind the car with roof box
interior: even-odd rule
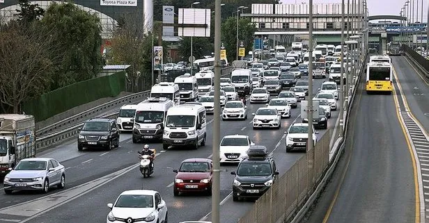
[[[286,152],[299,149],[306,151],[307,140],[309,139],[309,124],[294,123],[290,125],[286,134]],[[318,134],[313,127],[313,144],[315,144]]]

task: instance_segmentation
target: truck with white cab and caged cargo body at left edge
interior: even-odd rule
[[[36,125],[33,115],[0,115],[0,175],[24,158],[36,157]]]

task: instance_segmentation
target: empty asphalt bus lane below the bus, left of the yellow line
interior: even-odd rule
[[[412,75],[398,60],[403,58],[393,58],[401,68],[396,72]],[[414,222],[412,158],[396,115],[398,106],[392,95],[366,94],[364,81],[351,113],[345,153],[303,222]]]

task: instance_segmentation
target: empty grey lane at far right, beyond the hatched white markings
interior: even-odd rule
[[[393,67],[398,75],[403,95],[413,115],[423,127],[429,129],[429,85],[424,82],[404,56],[392,57]],[[426,114],[426,115],[425,115]]]

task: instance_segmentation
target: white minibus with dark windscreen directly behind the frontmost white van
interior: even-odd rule
[[[196,83],[196,77],[186,73],[174,79],[174,83],[179,85],[180,90],[180,104],[187,101],[198,100],[198,84]]]

